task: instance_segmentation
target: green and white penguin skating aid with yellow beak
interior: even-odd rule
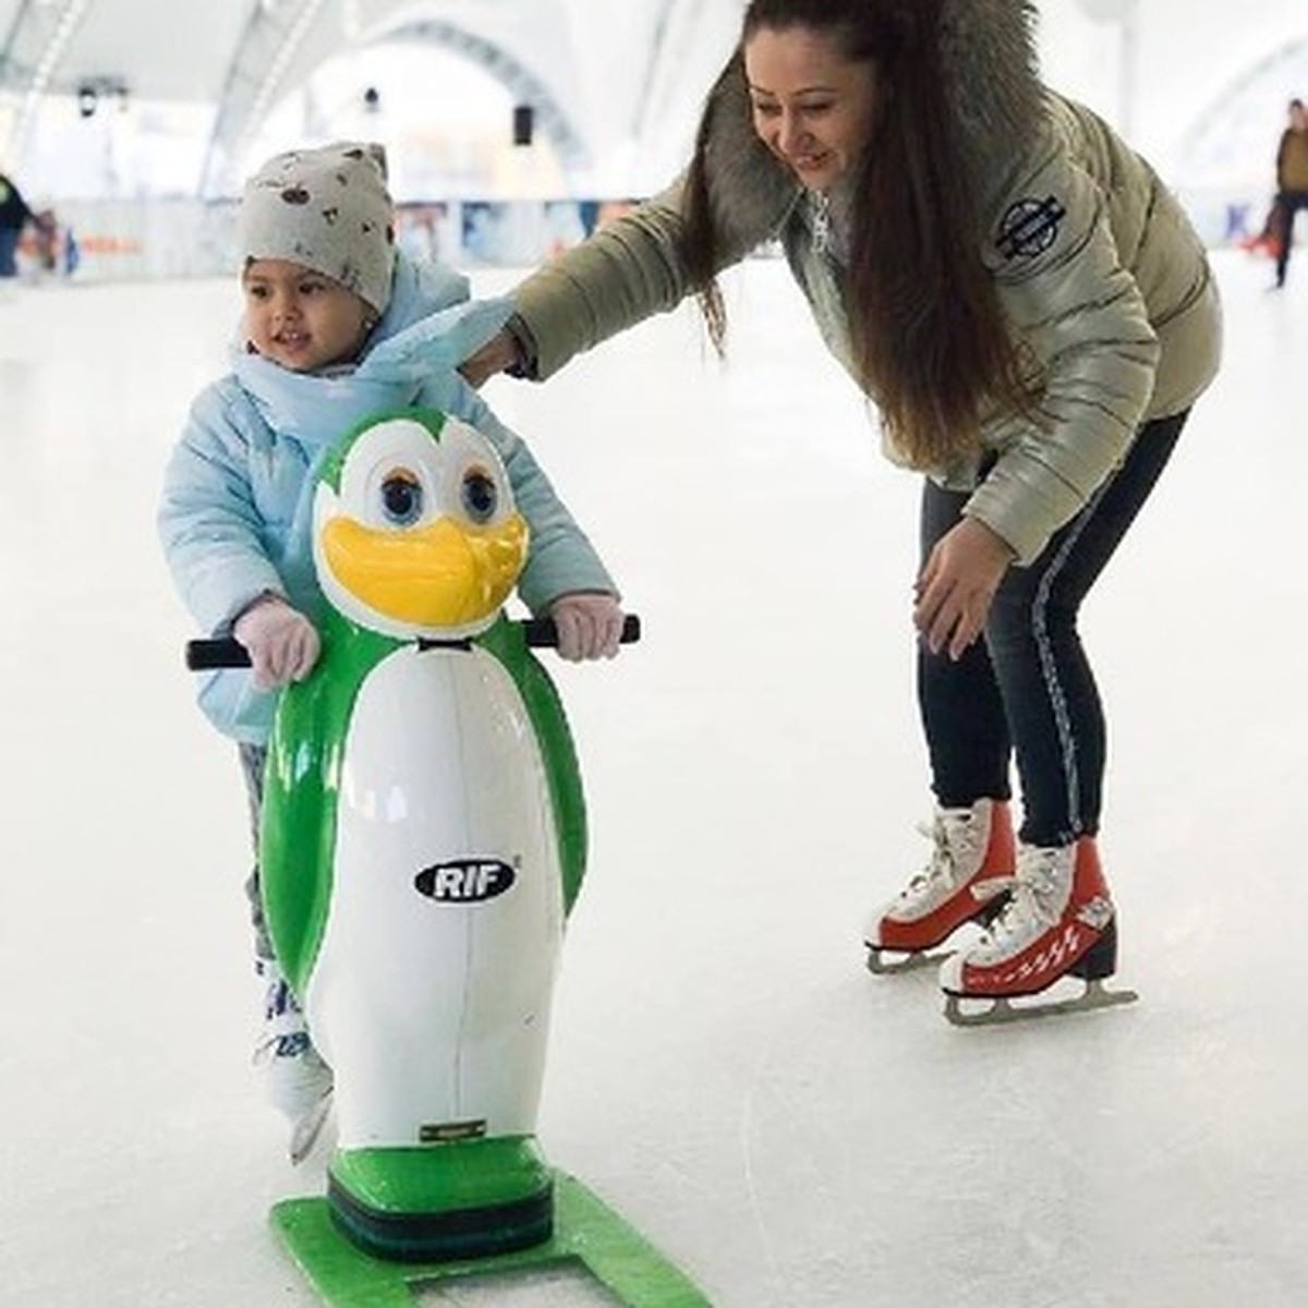
[[[700,1308],[536,1141],[586,814],[531,653],[549,624],[501,607],[527,545],[504,466],[438,412],[365,420],[318,473],[311,531],[322,654],[277,704],[262,895],[334,1076],[337,1141],[326,1196],[275,1205],[272,1224],[341,1308],[555,1264],[632,1308]],[[187,662],[245,662],[233,646],[191,642]]]

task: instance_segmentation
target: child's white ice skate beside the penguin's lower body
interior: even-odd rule
[[[331,1110],[332,1073],[314,1049],[305,1015],[281,969],[271,959],[260,959],[259,974],[268,989],[254,1062],[268,1103],[290,1121],[290,1160],[301,1163]]]

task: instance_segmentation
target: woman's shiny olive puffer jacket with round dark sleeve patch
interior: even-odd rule
[[[942,5],[942,64],[981,204],[981,258],[1032,361],[1044,421],[990,421],[976,458],[933,476],[971,489],[967,511],[1019,562],[1088,501],[1142,422],[1194,403],[1220,353],[1202,242],[1144,160],[1040,82],[1032,20],[1024,0]],[[753,133],[743,78],[719,80],[708,112],[725,262],[780,241],[824,340],[850,368],[841,242],[820,239],[812,198]],[[841,216],[838,195],[833,211],[837,232],[857,221]],[[514,324],[531,347],[531,374],[548,377],[679,305],[692,289],[680,237],[678,182],[528,277],[514,294]]]

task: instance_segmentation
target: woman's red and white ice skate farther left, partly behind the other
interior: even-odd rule
[[[937,808],[921,832],[931,859],[908,888],[867,925],[867,967],[901,972],[934,960],[931,954],[965,922],[985,923],[1003,905],[1015,859],[1012,819],[1002,799],[971,808]],[[988,888],[978,893],[977,887]]]

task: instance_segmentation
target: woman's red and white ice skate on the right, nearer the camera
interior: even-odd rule
[[[1020,846],[1016,874],[1006,888],[1008,900],[985,935],[940,968],[950,1022],[964,1027],[1015,1022],[1138,998],[1134,990],[1104,988],[1117,968],[1117,918],[1092,837],[1056,849]],[[976,886],[973,892],[990,895],[993,889]],[[1086,982],[1079,995],[1010,1002],[1041,995],[1065,977]],[[968,1001],[981,1001],[981,1006]]]

